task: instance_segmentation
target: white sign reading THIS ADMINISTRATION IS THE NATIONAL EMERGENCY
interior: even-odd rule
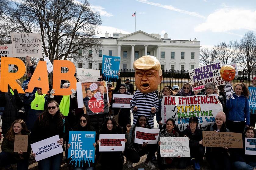
[[[11,32],[14,57],[43,58],[41,34]]]

